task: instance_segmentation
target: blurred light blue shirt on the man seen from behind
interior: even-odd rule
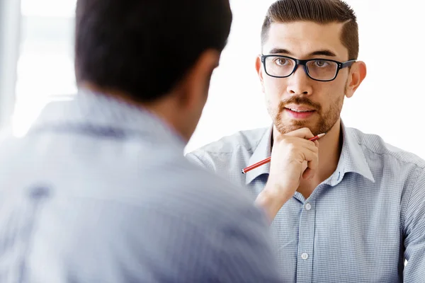
[[[278,282],[263,214],[152,114],[81,91],[0,144],[0,282]]]

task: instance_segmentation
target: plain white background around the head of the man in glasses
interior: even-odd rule
[[[271,0],[232,0],[234,22],[210,98],[186,151],[240,129],[271,125],[254,59]],[[341,117],[348,127],[379,134],[425,158],[425,14],[423,1],[348,0],[358,16],[359,59],[368,76]],[[417,62],[417,63],[416,63]]]

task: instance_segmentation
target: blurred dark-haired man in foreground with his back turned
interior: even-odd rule
[[[231,21],[77,1],[77,98],[0,146],[0,282],[278,282],[263,214],[183,157]]]

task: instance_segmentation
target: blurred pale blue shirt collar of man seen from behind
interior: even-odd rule
[[[71,101],[54,102],[42,110],[31,129],[48,127],[107,127],[140,133],[184,149],[186,142],[175,129],[146,108],[103,93],[79,89]],[[30,130],[31,130],[30,129]]]

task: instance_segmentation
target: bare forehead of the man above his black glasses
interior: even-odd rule
[[[272,23],[263,53],[285,49],[298,59],[305,59],[317,50],[329,50],[341,60],[348,59],[348,50],[341,42],[344,23],[319,24],[309,21]]]

